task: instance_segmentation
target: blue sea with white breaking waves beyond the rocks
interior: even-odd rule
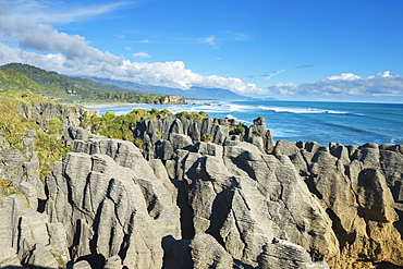
[[[343,145],[365,143],[403,144],[403,105],[317,101],[224,101],[190,100],[190,105],[106,105],[88,106],[99,113],[129,113],[134,108],[169,109],[171,112],[205,111],[213,118],[234,118],[246,124],[266,118],[274,140],[315,140]]]

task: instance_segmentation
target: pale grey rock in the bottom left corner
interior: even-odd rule
[[[70,261],[64,225],[50,223],[35,206],[22,194],[0,197],[1,268],[58,268]]]

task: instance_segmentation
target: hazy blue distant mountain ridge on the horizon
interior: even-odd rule
[[[229,89],[222,89],[222,88],[192,87],[190,89],[184,90],[180,88],[143,85],[143,84],[133,83],[133,82],[123,82],[123,81],[115,81],[115,80],[108,80],[108,78],[98,78],[98,77],[90,77],[90,78],[96,82],[115,85],[115,86],[129,88],[132,90],[141,90],[141,91],[159,94],[159,95],[179,95],[187,99],[227,99],[227,100],[253,99],[251,97],[241,96]]]

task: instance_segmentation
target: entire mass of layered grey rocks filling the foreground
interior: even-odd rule
[[[132,142],[85,109],[21,107],[71,147],[44,184],[35,132],[0,136],[0,268],[401,268],[403,146],[273,142],[185,114],[142,118]]]

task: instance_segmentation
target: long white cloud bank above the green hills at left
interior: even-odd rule
[[[198,86],[225,88],[239,94],[260,91],[255,84],[245,84],[240,78],[196,74],[182,61],[132,62],[89,46],[82,36],[60,33],[49,25],[27,20],[0,17],[0,35],[20,45],[20,48],[12,48],[0,42],[0,64],[23,62],[66,75],[107,77],[182,89]]]

